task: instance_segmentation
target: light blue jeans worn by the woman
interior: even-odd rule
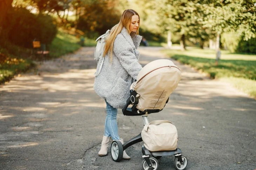
[[[105,136],[111,137],[113,140],[120,140],[118,135],[118,127],[117,127],[117,109],[113,108],[106,100],[107,104],[107,117],[105,121]]]

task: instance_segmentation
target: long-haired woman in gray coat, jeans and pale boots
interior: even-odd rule
[[[99,156],[106,156],[110,137],[120,140],[116,121],[117,108],[122,109],[129,97],[132,82],[137,79],[142,69],[139,64],[139,47],[142,37],[139,36],[140,17],[137,12],[127,9],[123,12],[121,20],[106,37],[103,54],[100,57],[96,70],[94,90],[107,104],[107,117],[105,133],[101,142]],[[103,60],[104,57],[104,60]],[[101,62],[102,68],[100,69]],[[130,157],[123,152],[123,159]]]

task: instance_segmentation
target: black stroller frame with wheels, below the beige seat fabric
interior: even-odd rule
[[[136,97],[137,93],[135,90],[130,90],[130,96],[126,101],[125,107],[122,109],[122,112],[125,116],[142,116],[144,125],[148,124],[148,116],[150,113],[156,113],[161,111],[160,109],[150,109],[139,111],[136,109],[136,104],[139,103],[139,98]],[[166,103],[168,102],[167,99]],[[132,108],[128,108],[130,104],[133,104]],[[115,162],[119,162],[122,160],[123,151],[128,147],[142,142],[141,133],[129,141],[122,144],[120,141],[113,141],[111,144],[111,156]],[[158,161],[156,158],[160,158],[162,156],[171,156],[174,155],[174,168],[176,170],[183,170],[187,167],[187,158],[182,156],[182,151],[180,148],[175,150],[164,150],[164,151],[150,151],[144,145],[142,145],[142,157],[144,161],[142,163],[144,170],[156,170],[158,168]],[[153,157],[150,157],[152,155]]]

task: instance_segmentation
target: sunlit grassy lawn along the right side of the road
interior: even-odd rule
[[[186,51],[163,50],[171,58],[207,73],[213,79],[231,83],[237,89],[256,98],[256,55],[221,51],[215,64],[215,50],[190,48]]]

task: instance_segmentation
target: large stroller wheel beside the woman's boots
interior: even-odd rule
[[[111,144],[111,156],[115,162],[119,162],[123,158],[123,145],[120,141],[115,140]]]

